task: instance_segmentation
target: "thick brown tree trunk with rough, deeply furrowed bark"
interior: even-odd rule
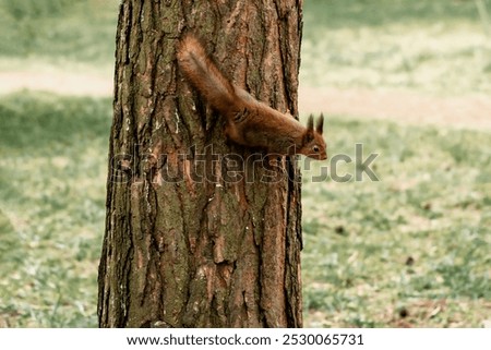
[[[298,116],[301,3],[122,2],[99,326],[302,326],[296,158],[228,143],[176,62],[193,33],[235,84]]]

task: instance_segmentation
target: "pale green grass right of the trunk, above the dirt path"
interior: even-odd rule
[[[491,34],[475,1],[309,0],[304,22],[303,84],[491,93]]]

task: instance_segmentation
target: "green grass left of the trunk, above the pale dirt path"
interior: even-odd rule
[[[119,1],[0,0],[0,56],[112,64]]]

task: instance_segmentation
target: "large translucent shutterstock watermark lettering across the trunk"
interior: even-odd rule
[[[297,164],[308,181],[334,182],[380,181],[374,171],[378,153],[367,154],[362,144],[355,145],[355,156],[347,154],[332,155],[327,160],[314,160],[309,157],[298,158]],[[154,183],[212,182],[237,183],[274,183],[302,181],[296,171],[289,171],[288,157],[278,154],[253,153],[243,157],[239,154],[220,154],[213,145],[203,152],[193,146],[187,153],[154,154],[141,152],[136,146],[133,154],[119,154],[111,159],[111,181],[117,183],[142,182],[143,179]],[[342,170],[344,169],[344,170]]]

